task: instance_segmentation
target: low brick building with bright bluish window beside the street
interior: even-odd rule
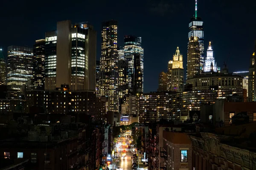
[[[163,131],[160,170],[192,170],[192,144],[186,133]]]

